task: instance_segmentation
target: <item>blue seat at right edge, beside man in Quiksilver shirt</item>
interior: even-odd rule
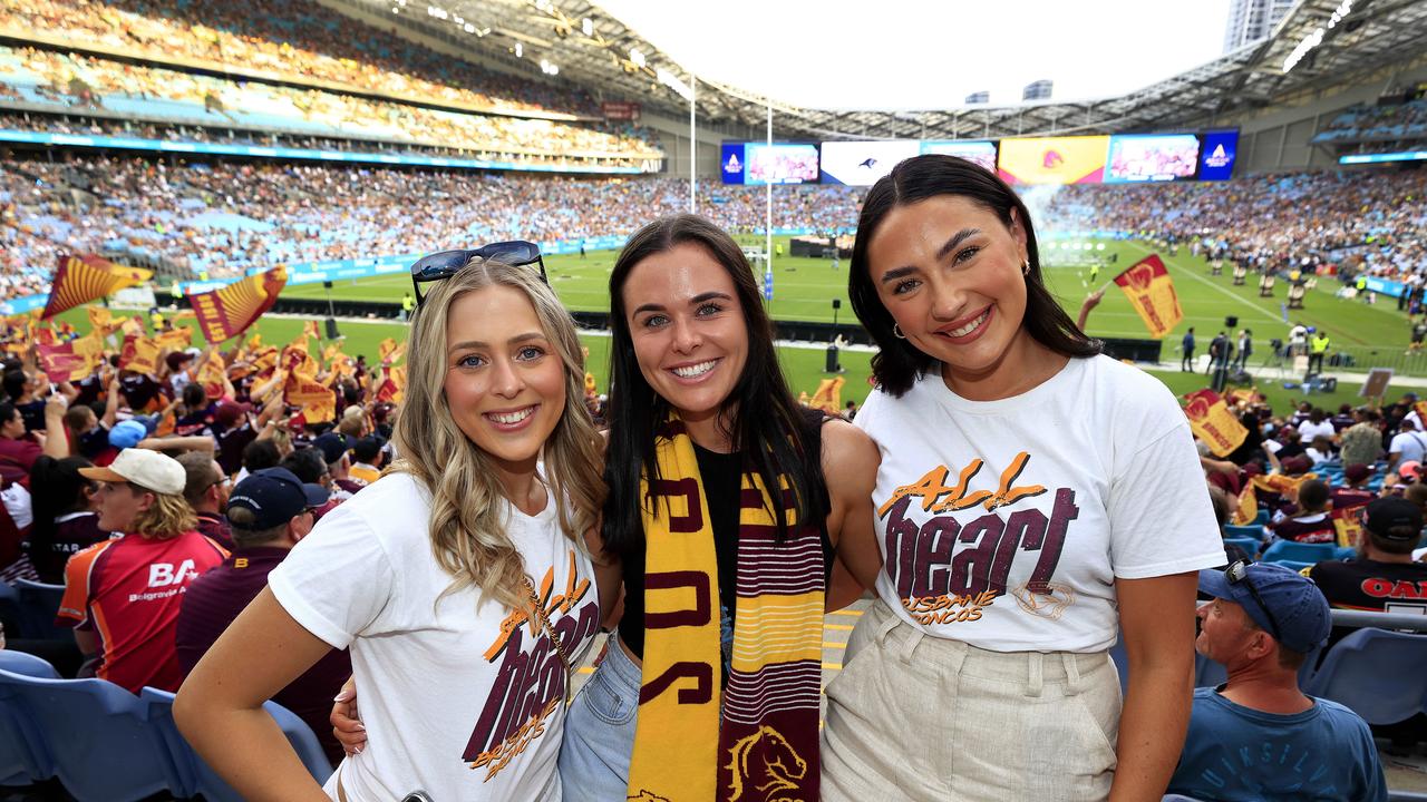
[[[1423,709],[1427,672],[1384,672],[1383,666],[1424,664],[1427,635],[1364,628],[1329,649],[1304,692],[1346,705],[1368,724],[1397,724]]]

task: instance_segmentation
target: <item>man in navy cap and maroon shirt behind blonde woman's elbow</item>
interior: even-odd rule
[[[287,468],[254,471],[233,488],[227,507],[233,555],[193,581],[178,611],[176,652],[184,676],[267,587],[268,574],[288,551],[313,531],[313,509],[327,504],[327,488],[303,484]],[[334,762],[341,759],[342,749],[331,735],[327,715],[351,671],[348,654],[334,651],[273,696],[313,728]]]

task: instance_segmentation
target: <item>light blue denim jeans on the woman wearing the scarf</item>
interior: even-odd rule
[[[559,746],[565,799],[625,802],[642,671],[611,635],[599,668],[575,695]]]

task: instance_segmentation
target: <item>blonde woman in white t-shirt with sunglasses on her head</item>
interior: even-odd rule
[[[605,487],[574,321],[507,245],[412,267],[444,281],[411,323],[405,460],[323,517],[178,694],[245,799],[561,799],[569,671],[618,575],[596,588],[584,541]],[[342,648],[377,748],[320,788],[261,705]]]

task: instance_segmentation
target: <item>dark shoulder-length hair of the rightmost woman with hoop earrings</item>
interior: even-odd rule
[[[956,196],[992,211],[1010,228],[1015,220],[1026,231],[1026,254],[1030,274],[1026,275],[1026,315],[1020,325],[1036,341],[1066,357],[1093,357],[1100,352],[1100,341],[1080,331],[1055,297],[1046,290],[1040,275],[1040,254],[1030,211],[1016,193],[989,170],[955,156],[928,154],[908,158],[872,186],[858,217],[858,238],[852,245],[852,270],[848,273],[848,295],[858,320],[872,334],[878,354],[872,357],[872,375],[882,390],[900,397],[912,388],[918,377],[936,360],[912,342],[892,334],[892,313],[882,305],[868,265],[868,243],[888,213],[905,204],[936,196]]]

